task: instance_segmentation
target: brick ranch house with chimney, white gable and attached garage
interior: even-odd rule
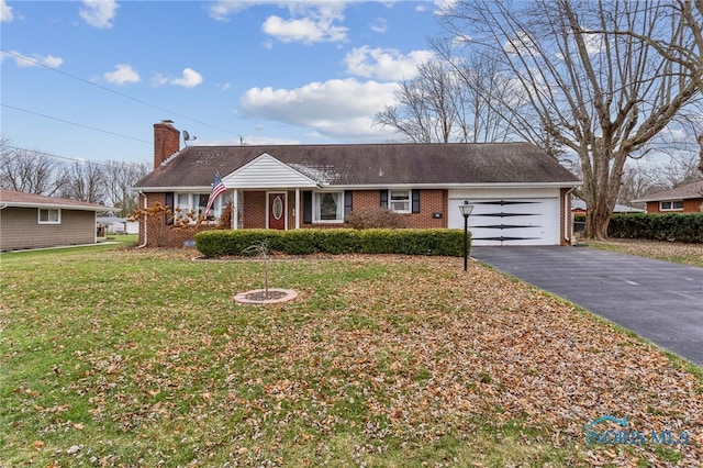
[[[403,213],[411,227],[464,227],[459,204],[468,200],[475,205],[473,245],[566,245],[572,232],[570,192],[580,185],[528,143],[181,151],[180,132],[164,121],[154,125],[154,171],[134,187],[140,207],[160,202],[176,213],[202,214],[219,172],[227,191],[215,202],[213,219],[232,203],[232,229],[344,226],[353,210],[377,207]],[[192,239],[188,230],[169,235],[175,246]],[[144,222],[140,243],[150,245]]]

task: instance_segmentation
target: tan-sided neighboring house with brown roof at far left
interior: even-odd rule
[[[109,207],[0,190],[0,250],[94,244],[97,213]]]

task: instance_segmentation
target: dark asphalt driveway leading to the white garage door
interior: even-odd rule
[[[703,268],[587,247],[472,247],[471,257],[703,366]]]

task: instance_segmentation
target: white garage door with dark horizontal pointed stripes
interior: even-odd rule
[[[449,227],[464,229],[459,204],[449,200]],[[559,199],[471,200],[471,245],[559,245]]]

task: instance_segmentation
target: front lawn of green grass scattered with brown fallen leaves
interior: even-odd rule
[[[196,256],[0,256],[0,466],[703,459],[701,368],[490,268],[275,258],[271,287],[298,299],[242,305],[261,264]],[[604,415],[648,443],[587,447]]]

